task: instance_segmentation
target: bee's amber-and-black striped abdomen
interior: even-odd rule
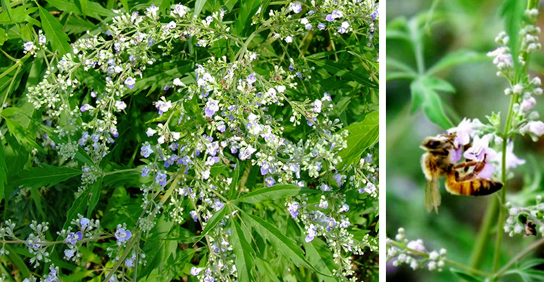
[[[455,195],[485,196],[493,194],[501,188],[503,188],[503,183],[482,178],[457,181],[453,173],[449,174],[446,179],[446,190]]]

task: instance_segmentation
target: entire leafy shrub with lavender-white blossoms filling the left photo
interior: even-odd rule
[[[378,3],[128,4],[3,5],[5,274],[377,279]]]

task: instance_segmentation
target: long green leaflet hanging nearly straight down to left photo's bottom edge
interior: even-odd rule
[[[255,251],[253,247],[249,245],[242,228],[233,218],[232,220],[233,228],[231,227],[231,243],[233,244],[233,252],[236,256],[236,270],[238,272],[238,279],[240,281],[255,281],[253,275],[251,275],[251,270],[253,269],[253,257],[255,256]]]

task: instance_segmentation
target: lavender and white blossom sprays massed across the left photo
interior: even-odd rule
[[[311,30],[333,30],[333,35],[341,36],[365,26],[368,46],[373,48],[374,33],[378,30],[378,7],[373,2],[295,2],[280,10],[271,10],[269,19],[262,23],[256,20],[260,17],[259,10],[253,23],[272,31],[271,37],[266,39],[269,42],[281,39],[286,44]],[[130,110],[127,97],[135,89],[144,87],[139,82],[145,78],[146,68],[161,60],[161,55],[171,55],[173,46],[188,38],[195,39],[200,48],[220,40],[233,40],[240,45],[235,58],[211,57],[196,65],[194,77],[171,77],[164,82],[164,91],[171,94],[153,102],[159,118],[150,122],[145,132],[148,139],[139,151],[142,162],[146,163],[141,168],[141,176],[146,179],[141,187],[144,214],[132,229],[119,224],[113,234],[101,229],[99,220],[79,216],[71,227],[58,233],[64,238],[61,243],[66,245],[64,259],[79,259],[79,247],[87,241],[115,237],[108,254],[117,262],[116,267],[119,263],[129,269],[145,264],[146,255],[135,242],[153,228],[166,201],[172,207],[170,216],[177,223],[188,218],[184,210],[190,209],[191,219],[205,228],[208,221],[225,208],[226,194],[233,181],[223,174],[213,176],[213,169],[222,166],[232,170],[237,162],[246,161],[259,167],[264,186],[307,187],[303,178],[320,182],[324,193],[315,208],[307,207],[302,196],[297,199],[302,205],[292,198],[286,205],[291,216],[304,223],[307,242],[316,236],[326,238],[340,266],[335,274],[341,276],[342,281],[347,280],[353,271],[346,253],[362,254],[363,247],[377,250],[377,243],[369,236],[355,241],[347,232],[351,223],[344,213],[349,206],[338,191],[347,186],[349,174],[349,185],[375,198],[378,167],[372,164],[371,155],[355,167],[346,170],[338,167],[341,162],[338,152],[347,147],[344,140],[347,131],[339,130],[343,126],[340,120],[330,118],[331,95],[320,93],[318,99],[291,100],[289,94],[298,87],[298,79],[311,79],[307,63],[297,66],[290,59],[289,68],[274,65],[266,75],[253,70],[260,63],[258,50],[248,50],[251,40],[243,42],[229,32],[230,23],[223,20],[226,12],[223,9],[204,19],[191,17],[191,9],[182,4],[171,6],[168,16],[159,15],[158,10],[151,5],[142,15],[119,13],[104,34],[88,32],[86,37],[75,41],[72,53],[62,55],[37,86],[28,88],[28,102],[46,113],[46,125],[52,129],[43,135],[44,140],[61,158],[71,160],[81,148],[93,161],[82,166],[81,192],[103,175],[96,164],[115,144],[120,133],[117,117]],[[304,17],[295,19],[295,15],[303,12]],[[23,48],[35,53],[43,47],[43,42],[45,37],[39,33],[37,43],[28,42]],[[162,54],[157,54],[157,49]],[[104,86],[86,89],[78,75],[81,68]],[[83,102],[74,107],[68,101],[77,93],[84,93]],[[289,120],[275,118],[271,113],[275,107],[291,109]],[[309,126],[311,131],[304,139],[290,140],[284,134],[288,124]],[[60,142],[49,141],[52,134]],[[294,207],[294,203],[298,207]],[[227,214],[205,235],[209,259],[206,265],[191,270],[200,281],[230,281],[237,276],[231,231],[227,228],[230,218]],[[13,228],[12,223],[6,223],[6,227],[0,229],[0,236],[19,241]],[[60,243],[46,241],[47,223],[32,223],[31,228],[33,232],[28,239],[20,241],[33,254],[31,262],[37,267],[39,261],[49,262],[47,247]],[[1,252],[7,251],[2,249]],[[116,271],[114,267],[105,274],[106,279],[116,281]],[[53,266],[43,281],[57,281],[57,274],[58,268]],[[32,279],[28,281],[35,281]]]

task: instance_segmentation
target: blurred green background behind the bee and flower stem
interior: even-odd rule
[[[505,79],[496,76],[492,59],[485,57],[496,48],[494,38],[503,30],[499,15],[502,1],[485,0],[388,0],[387,1],[387,58],[394,58],[416,69],[414,48],[406,41],[389,38],[390,25],[399,19],[411,19],[429,12],[433,6],[434,21],[425,29],[425,68],[433,66],[447,54],[458,50],[474,50],[482,56],[472,62],[458,64],[438,77],[451,83],[455,93],[440,93],[447,115],[454,124],[461,119],[478,118],[485,120],[492,112],[507,112],[508,97],[503,94],[507,86]],[[544,15],[540,9],[538,26],[544,28]],[[542,41],[542,40],[541,40]],[[532,75],[543,77],[544,53],[539,50],[532,55]],[[391,66],[387,60],[387,74]],[[420,168],[423,151],[421,140],[437,135],[443,129],[429,122],[427,117],[416,111],[410,114],[410,80],[387,80],[387,236],[394,238],[398,227],[406,229],[407,238],[421,238],[427,250],[447,249],[448,259],[469,265],[474,241],[483,220],[485,207],[491,196],[464,197],[447,194],[443,181],[440,183],[442,205],[439,214],[429,214],[424,206],[425,177]],[[544,99],[537,97],[536,111],[544,115]],[[544,142],[532,142],[530,138],[517,138],[514,153],[527,162],[514,170],[515,176],[509,181],[507,200],[516,205],[534,205],[534,196],[544,194],[541,172],[544,167]],[[494,223],[496,218],[494,218]],[[496,224],[492,230],[496,231]],[[489,236],[483,256],[483,269],[491,271],[495,234]],[[535,237],[509,238],[505,234],[501,265],[530,245]],[[533,256],[542,256],[539,249]],[[525,257],[528,259],[530,256]],[[523,260],[521,261],[523,262]],[[537,267],[540,268],[540,267]],[[541,268],[541,269],[544,269]],[[393,267],[387,264],[388,281],[460,281],[449,271],[414,272],[409,267]],[[503,281],[521,281],[519,276],[507,276]]]

